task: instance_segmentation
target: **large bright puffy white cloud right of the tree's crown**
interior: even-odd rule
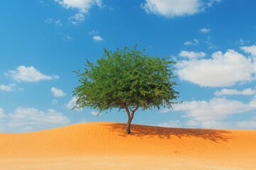
[[[255,63],[235,50],[213,53],[210,59],[182,60],[176,64],[180,79],[200,86],[233,86],[252,81]]]

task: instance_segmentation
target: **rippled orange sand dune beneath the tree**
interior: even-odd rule
[[[0,169],[256,169],[256,131],[83,123],[0,134]]]

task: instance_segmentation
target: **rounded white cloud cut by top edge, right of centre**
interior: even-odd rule
[[[146,0],[142,8],[146,13],[159,14],[168,18],[176,16],[190,16],[204,11],[205,8],[212,6],[219,0],[201,1],[201,0]]]

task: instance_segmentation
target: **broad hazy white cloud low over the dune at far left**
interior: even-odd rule
[[[1,109],[0,109],[1,114]],[[4,117],[4,132],[31,132],[68,125],[70,120],[53,109],[39,111],[36,108],[16,108]]]

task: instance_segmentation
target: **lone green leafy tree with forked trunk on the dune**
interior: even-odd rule
[[[112,108],[125,109],[128,116],[127,134],[131,132],[134,113],[139,109],[172,108],[178,96],[172,72],[175,62],[149,57],[145,50],[124,47],[112,52],[104,49],[104,55],[96,64],[87,61],[85,72],[76,72],[80,86],[73,96],[74,108],[96,108],[100,112]]]

